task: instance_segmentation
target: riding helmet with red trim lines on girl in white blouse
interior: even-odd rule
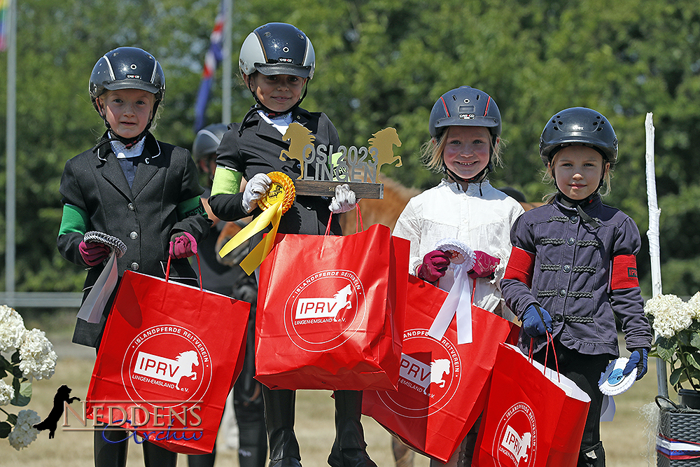
[[[493,155],[493,148],[496,147],[496,141],[500,137],[502,125],[496,101],[486,92],[470,86],[461,86],[440,96],[433,105],[433,110],[430,111],[428,123],[430,136],[437,140],[447,127],[453,125],[488,128],[492,143],[490,155]],[[444,165],[444,162],[442,169],[456,180],[473,182],[484,179],[484,176],[493,170],[493,162],[489,158],[489,164],[484,167],[484,170],[468,180],[456,176]]]

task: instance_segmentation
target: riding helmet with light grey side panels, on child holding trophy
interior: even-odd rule
[[[311,45],[311,39],[301,29],[285,22],[269,22],[267,25],[255,28],[246,37],[239,55],[239,69],[241,75],[247,76],[258,71],[265,76],[292,75],[311,80],[316,69],[316,54],[314,46]],[[270,116],[279,114],[263,106],[250,85],[248,89],[252,92],[258,106]],[[307,90],[308,81],[301,99],[288,111],[301,104],[307,95]]]

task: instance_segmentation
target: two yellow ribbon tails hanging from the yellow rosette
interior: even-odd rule
[[[260,216],[254,218],[251,223],[246,225],[240,232],[238,232],[232,239],[230,239],[223,248],[219,251],[219,256],[223,258],[233,251],[237,246],[245,242],[250,237],[253,237],[256,233],[260,232],[262,229],[266,228],[269,223],[272,223],[272,229],[265,235],[262,242],[257,244],[248,256],[243,258],[241,261],[241,267],[246,272],[246,274],[251,275],[253,271],[260,266],[263,260],[267,257],[267,254],[272,250],[272,244],[274,244],[274,237],[277,235],[277,227],[279,226],[279,220],[282,218],[282,201],[279,200],[274,202],[269,208],[262,211]]]

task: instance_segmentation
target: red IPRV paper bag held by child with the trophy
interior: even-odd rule
[[[395,389],[409,242],[372,225],[277,234],[260,265],[255,379],[270,389]]]

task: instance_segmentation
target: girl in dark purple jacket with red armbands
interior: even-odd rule
[[[559,372],[591,397],[578,466],[602,467],[598,380],[619,356],[615,316],[631,352],[623,375],[636,370],[636,379],[643,377],[652,342],[637,281],[639,231],[601,201],[617,162],[617,137],[601,113],[582,107],[555,113],[542,131],[540,156],[557,193],[513,226],[500,284],[523,322],[519,347],[545,363],[551,333]],[[551,356],[546,363],[555,367]]]

